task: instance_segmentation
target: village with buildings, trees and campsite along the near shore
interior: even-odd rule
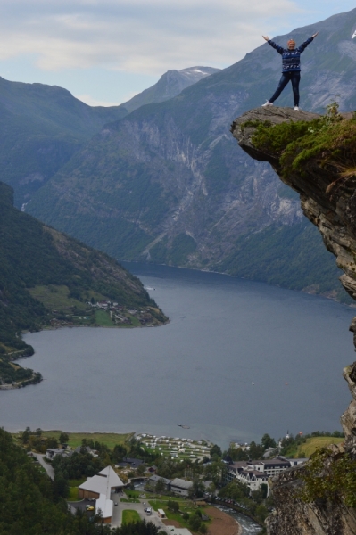
[[[59,438],[63,442],[70,437],[62,433]],[[78,464],[78,459],[98,467],[87,477],[73,473],[76,478],[70,479],[66,498],[73,514],[79,509],[112,528],[141,519],[153,522],[161,535],[239,535],[236,513],[262,528],[273,509],[270,478],[307,460],[280,455],[281,442],[266,448],[259,459],[249,457],[254,443],[233,442],[228,452],[246,456],[234,461],[228,452],[221,457],[219,447],[209,440],[139,433],[115,446],[113,462],[103,467],[111,450],[94,440],[81,442],[76,448],[60,443],[42,454],[32,449],[28,455],[51,478],[72,461]]]

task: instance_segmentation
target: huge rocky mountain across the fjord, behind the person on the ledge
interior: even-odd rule
[[[300,43],[319,30],[302,55],[302,107],[322,111],[337,93],[343,110],[356,107],[355,15],[352,10],[276,37],[280,44],[292,36]],[[280,258],[295,229],[301,246],[295,249],[297,256],[286,259],[292,274],[300,269],[297,251],[302,251],[306,232],[325,262],[330,260],[327,252],[321,253],[317,233],[302,224],[293,194],[268,165],[236,151],[228,132],[237,113],[261,105],[274,91],[280,62],[276,51],[261,45],[177,97],[106,125],[33,197],[28,210],[120,259],[239,276],[253,276],[254,262],[260,263],[260,280],[297,288],[326,283],[319,281],[312,264],[304,262],[307,276],[294,276],[292,283],[285,276],[282,280],[277,268],[270,273],[270,255],[261,262],[266,233],[285,236],[285,241],[271,241]],[[291,102],[286,90],[278,104]],[[324,286],[326,291],[335,288]]]

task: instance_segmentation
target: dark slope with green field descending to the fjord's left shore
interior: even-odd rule
[[[107,255],[13,208],[12,188],[3,183],[0,251],[0,384],[32,379],[9,363],[33,353],[21,340],[22,330],[50,324],[97,325],[100,317],[88,300],[117,301],[125,324],[131,318],[131,325],[141,325],[141,317],[136,320],[127,313],[136,308],[144,309],[147,324],[167,319],[136,276]],[[110,325],[109,314],[101,314]]]

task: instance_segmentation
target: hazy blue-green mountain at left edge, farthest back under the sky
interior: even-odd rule
[[[124,107],[92,108],[62,87],[0,78],[1,179],[18,207]]]

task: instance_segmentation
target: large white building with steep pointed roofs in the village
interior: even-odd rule
[[[124,483],[112,466],[106,466],[101,472],[79,485],[79,498],[95,498],[95,513],[101,512],[103,523],[112,523],[112,493],[121,490]]]

